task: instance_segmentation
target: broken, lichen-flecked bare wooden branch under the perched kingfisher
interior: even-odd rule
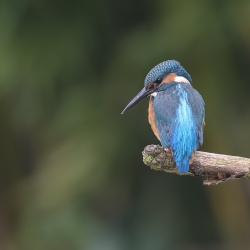
[[[144,164],[151,169],[179,175],[205,176],[207,179],[204,180],[204,185],[216,185],[242,177],[250,179],[248,158],[197,151],[189,172],[180,174],[171,153],[166,152],[161,146],[148,145],[142,155]]]

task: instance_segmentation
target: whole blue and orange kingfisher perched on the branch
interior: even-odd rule
[[[203,144],[205,103],[192,84],[178,61],[161,62],[149,71],[143,89],[121,113],[150,97],[149,123],[162,147],[171,152],[180,173],[189,171],[195,152]]]

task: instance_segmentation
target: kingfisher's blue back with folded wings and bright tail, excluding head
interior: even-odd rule
[[[153,105],[162,146],[173,151],[179,172],[188,172],[191,155],[203,143],[201,95],[191,85],[174,84],[158,92]]]

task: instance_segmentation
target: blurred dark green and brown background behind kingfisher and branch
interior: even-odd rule
[[[250,157],[250,1],[1,0],[0,249],[249,249],[250,181],[150,170],[148,101],[176,59],[206,103],[201,150]]]

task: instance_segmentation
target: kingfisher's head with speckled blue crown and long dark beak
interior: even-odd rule
[[[175,60],[159,63],[149,71],[144,81],[144,88],[126,106],[122,114],[145,97],[149,95],[156,96],[158,92],[168,88],[170,83],[192,84],[191,76],[180,63]]]

